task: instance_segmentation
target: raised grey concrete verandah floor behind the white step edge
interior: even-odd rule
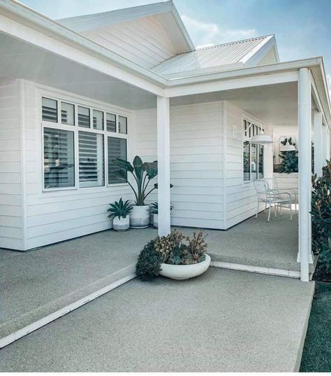
[[[214,266],[288,277],[297,263],[297,216],[266,222],[266,214],[227,231],[206,230]],[[187,235],[194,229],[182,228]],[[108,230],[27,252],[0,250],[1,338],[22,330],[89,294],[134,277],[138,253],[156,230]],[[287,273],[287,274],[286,274]],[[291,274],[292,273],[292,274]],[[106,291],[105,291],[106,292]]]

